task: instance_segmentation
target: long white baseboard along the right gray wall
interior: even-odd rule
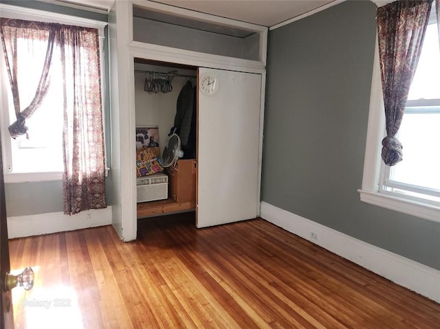
[[[440,271],[261,202],[261,218],[440,303]],[[316,239],[312,238],[312,232]]]

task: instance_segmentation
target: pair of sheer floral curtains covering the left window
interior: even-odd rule
[[[64,117],[63,136],[59,136],[63,138],[64,213],[107,207],[98,30],[14,19],[2,19],[0,25],[17,113],[17,122],[10,127],[12,137],[26,133],[25,119],[45,98],[51,74],[52,77],[61,74],[63,101],[53,106],[59,106]],[[17,38],[29,40],[30,48],[26,49],[29,52],[32,52],[32,42],[47,46],[35,97],[23,111],[20,111],[20,82],[17,80],[20,65]],[[61,69],[53,69],[50,73],[52,61],[61,63]]]

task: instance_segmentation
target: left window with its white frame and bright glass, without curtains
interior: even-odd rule
[[[100,30],[100,66],[101,72],[104,71],[102,69],[102,62],[104,61],[102,41],[103,27],[107,23],[41,10],[19,8],[12,5],[0,5],[2,17],[98,28]],[[23,105],[28,105],[34,97],[47,50],[47,43],[34,41],[32,48],[29,47],[29,44],[29,40],[17,39],[17,60],[21,66],[17,73],[17,80],[19,81],[22,109]],[[83,51],[87,52],[86,49],[83,49]],[[3,141],[3,170],[5,182],[7,183],[61,180],[63,177],[63,75],[61,74],[60,57],[60,48],[54,47],[50,67],[50,88],[39,109],[26,120],[29,139],[26,136],[12,139],[8,132],[8,126],[15,121],[16,115],[10,82],[6,73],[3,49],[0,46],[0,121]],[[36,63],[41,63],[41,67],[36,67],[36,65],[39,65]],[[103,80],[103,76],[101,76],[101,80]]]

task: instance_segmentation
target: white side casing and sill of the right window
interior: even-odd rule
[[[408,102],[408,104],[412,104]],[[414,103],[415,104],[415,103]],[[369,121],[366,133],[362,188],[358,190],[360,200],[371,205],[395,210],[404,214],[440,223],[440,205],[421,198],[405,196],[396,192],[384,192],[380,186],[384,181],[382,169],[382,139],[386,136],[382,80],[380,76],[379,47],[377,33],[371,79]]]

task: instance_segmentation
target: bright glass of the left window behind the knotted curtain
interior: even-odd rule
[[[47,48],[47,43],[39,41],[32,42],[32,49],[29,45],[28,40],[17,39],[17,62],[19,63],[17,79],[22,108],[23,105],[30,104],[34,97]],[[1,56],[4,58],[3,51]],[[11,150],[11,157],[5,159],[6,172],[63,172],[63,76],[61,62],[58,60],[59,49],[54,49],[53,58],[50,69],[50,88],[39,109],[26,120],[29,139],[25,135],[17,139],[8,137],[8,126],[16,120],[16,117],[4,59],[2,60],[1,74],[5,77],[8,111],[3,114],[5,124],[2,125],[1,130],[5,136],[5,142],[10,141]]]

